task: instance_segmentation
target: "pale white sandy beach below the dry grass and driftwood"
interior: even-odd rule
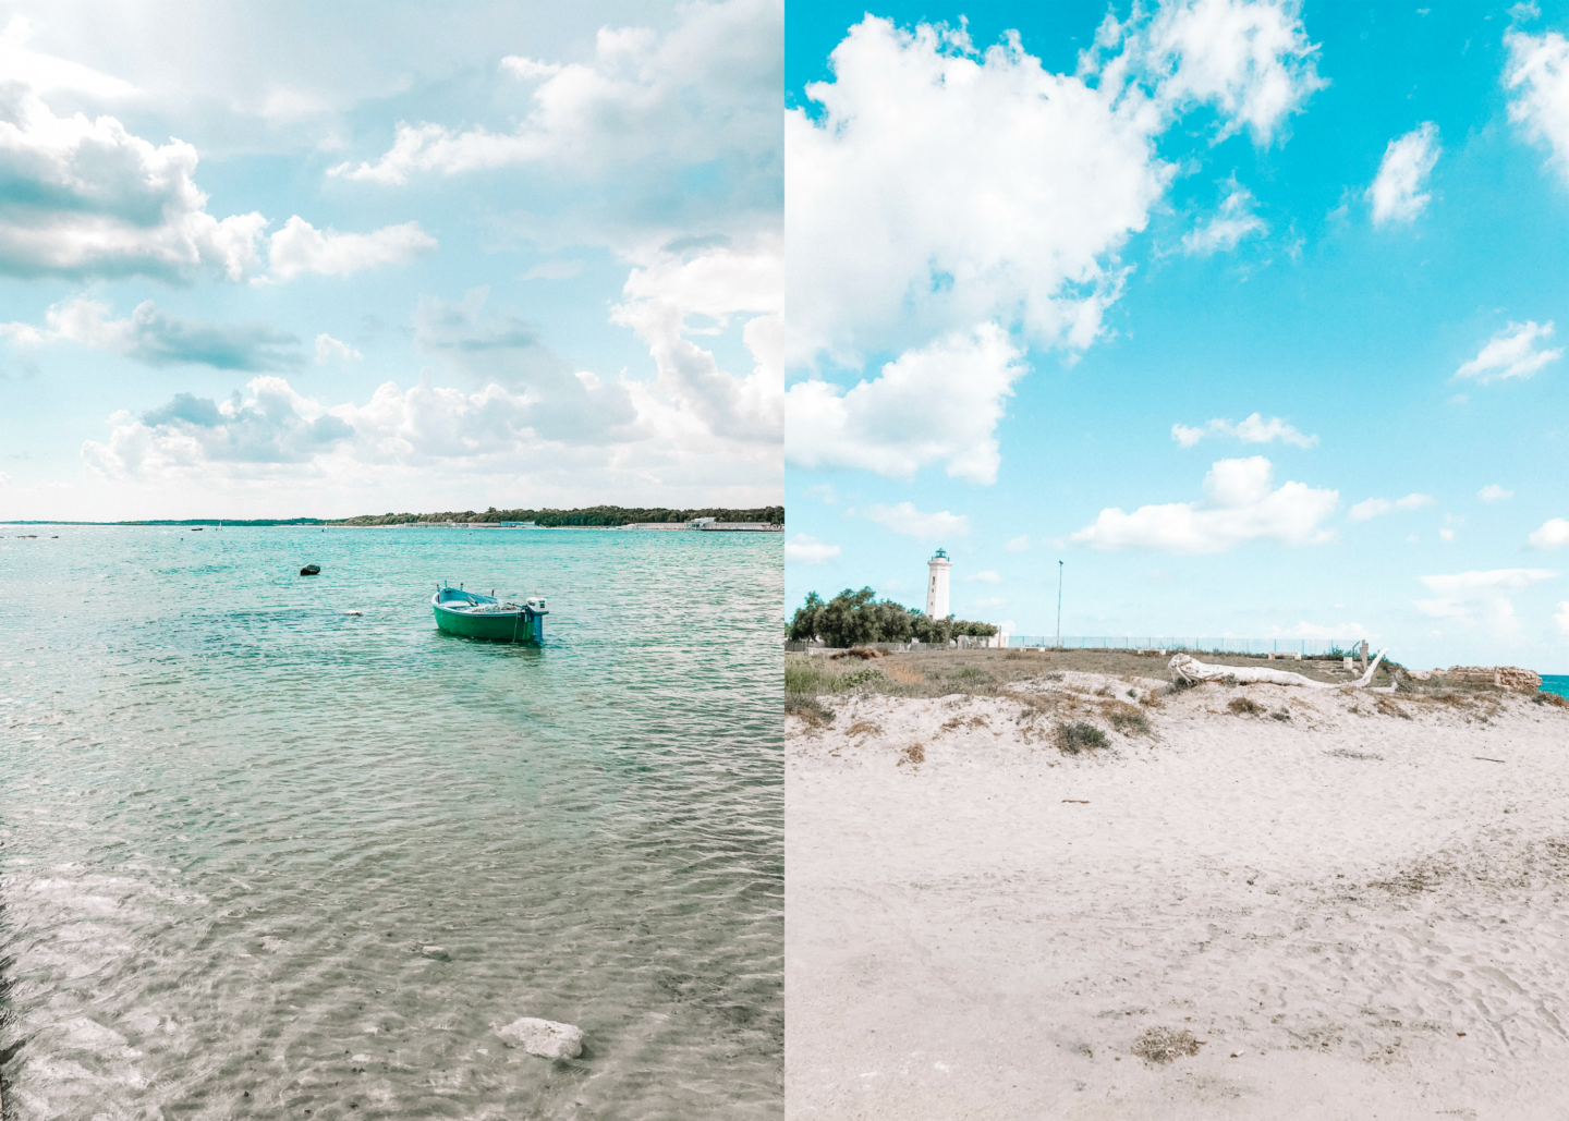
[[[1569,1116],[1569,712],[1406,707],[1203,685],[1079,757],[1014,701],[791,718],[788,1116]]]

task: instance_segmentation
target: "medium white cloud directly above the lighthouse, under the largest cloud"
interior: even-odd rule
[[[995,323],[901,354],[872,381],[841,390],[800,381],[784,395],[786,458],[908,478],[929,463],[971,483],[996,481],[1004,400],[1028,367]]]

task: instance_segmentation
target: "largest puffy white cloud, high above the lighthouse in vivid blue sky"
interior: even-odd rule
[[[1111,254],[1170,168],[1158,108],[1122,82],[1050,74],[1017,39],[868,16],[784,119],[791,364],[987,320],[1087,346],[1122,290]]]

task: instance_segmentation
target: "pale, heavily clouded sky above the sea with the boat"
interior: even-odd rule
[[[0,3],[0,517],[778,502],[781,44]]]

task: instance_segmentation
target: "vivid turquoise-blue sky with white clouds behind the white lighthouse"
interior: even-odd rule
[[[1569,6],[1109,11],[791,5],[789,605],[1569,671]]]

